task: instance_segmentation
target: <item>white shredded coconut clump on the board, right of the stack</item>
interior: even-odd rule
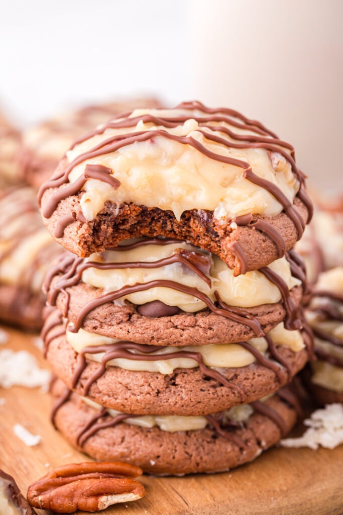
[[[283,447],[310,447],[317,450],[319,445],[334,449],[343,443],[343,405],[327,404],[324,409],[317,409],[311,418],[304,420],[308,426],[300,438],[281,440]]]

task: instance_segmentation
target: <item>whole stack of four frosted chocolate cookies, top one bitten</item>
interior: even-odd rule
[[[154,474],[218,472],[291,430],[312,351],[292,250],[311,218],[293,147],[229,109],[138,109],[79,138],[40,189],[68,251],[42,332],[52,420]]]

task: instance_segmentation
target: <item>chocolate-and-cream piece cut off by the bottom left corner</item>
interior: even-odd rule
[[[0,470],[0,515],[37,515],[21,494],[15,479]]]

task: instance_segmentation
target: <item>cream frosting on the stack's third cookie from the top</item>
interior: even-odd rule
[[[293,352],[298,352],[304,348],[303,338],[299,331],[288,331],[283,323],[277,325],[269,333],[277,346],[284,346]],[[69,344],[76,352],[81,352],[85,347],[97,345],[110,345],[118,342],[114,338],[101,336],[95,333],[88,333],[80,329],[77,333],[66,332]],[[264,354],[267,350],[267,342],[264,338],[252,338],[248,343]],[[166,359],[156,361],[138,361],[128,358],[115,358],[107,363],[108,366],[120,367],[125,370],[140,370],[148,372],[159,372],[161,374],[171,374],[176,368],[196,368],[198,363],[192,358],[177,357],[168,359],[168,354],[178,351],[199,352],[206,366],[212,368],[238,368],[245,367],[254,363],[256,358],[248,350],[238,344],[222,345],[198,345],[185,347],[164,347],[149,355],[166,355]],[[137,351],[129,351],[136,354]],[[104,353],[86,354],[88,359],[101,362]]]

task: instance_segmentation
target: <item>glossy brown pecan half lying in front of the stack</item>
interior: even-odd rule
[[[57,513],[99,511],[145,495],[139,467],[122,462],[86,462],[64,465],[48,472],[28,489],[31,506]]]

